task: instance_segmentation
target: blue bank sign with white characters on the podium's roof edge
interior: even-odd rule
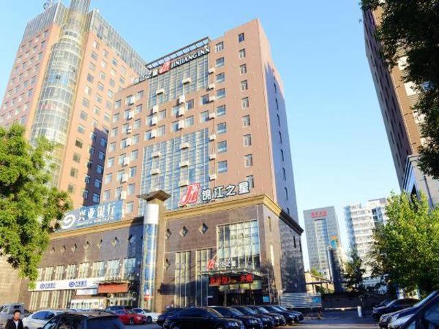
[[[88,226],[120,221],[123,201],[106,202],[69,211],[62,218],[60,230],[76,230]]]

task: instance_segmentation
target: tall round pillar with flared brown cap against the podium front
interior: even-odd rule
[[[139,306],[154,310],[158,223],[165,211],[163,202],[171,195],[155,191],[138,195],[146,201],[143,209],[143,246]]]

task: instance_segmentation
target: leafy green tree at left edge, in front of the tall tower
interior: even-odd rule
[[[47,160],[53,149],[43,138],[32,147],[21,125],[0,127],[0,256],[31,282],[49,233],[71,208],[67,193],[48,184]]]

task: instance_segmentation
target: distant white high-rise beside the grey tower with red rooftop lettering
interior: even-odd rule
[[[348,239],[351,249],[357,249],[358,256],[363,260],[366,268],[364,284],[366,287],[375,286],[379,278],[372,278],[370,250],[373,243],[373,230],[379,223],[385,224],[388,217],[385,214],[387,199],[373,199],[366,204],[351,204],[344,207],[344,217],[348,230]]]

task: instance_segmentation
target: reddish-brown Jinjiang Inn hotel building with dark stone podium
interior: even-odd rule
[[[283,86],[261,23],[146,69],[115,94],[101,204],[64,217],[21,300],[163,310],[305,292]]]

